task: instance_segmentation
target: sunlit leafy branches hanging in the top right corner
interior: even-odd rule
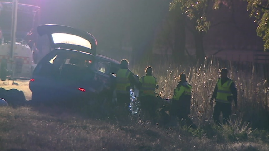
[[[265,0],[246,0],[248,2],[247,10],[250,16],[255,17],[257,22],[257,35],[264,41],[264,51],[269,49],[269,1]]]

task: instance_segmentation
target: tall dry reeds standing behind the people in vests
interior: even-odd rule
[[[256,68],[246,67],[246,70],[238,71],[231,63],[225,65],[213,59],[206,60],[203,66],[180,65],[174,67],[169,64],[161,66],[156,64],[152,67],[154,70],[161,69],[162,71],[154,71],[154,76],[159,83],[157,92],[164,98],[171,98],[179,81],[179,74],[186,73],[188,82],[193,86],[191,117],[198,125],[213,121],[213,107],[208,103],[219,78],[219,69],[226,67],[230,71],[229,77],[236,83],[238,92],[238,110],[233,111],[232,119],[250,122],[253,127],[268,127],[269,85],[263,75],[256,72]],[[134,71],[139,75],[145,74],[141,68],[134,68]]]

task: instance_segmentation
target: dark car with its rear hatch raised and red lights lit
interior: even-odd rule
[[[29,88],[33,101],[112,99],[119,62],[96,54],[91,34],[62,25],[37,27],[47,34],[52,51],[33,71]]]

